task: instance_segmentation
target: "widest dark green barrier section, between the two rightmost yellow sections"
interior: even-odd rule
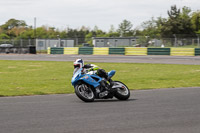
[[[170,48],[148,48],[148,55],[170,55]]]

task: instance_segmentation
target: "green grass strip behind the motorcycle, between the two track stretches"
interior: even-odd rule
[[[95,63],[130,89],[200,86],[200,65]],[[73,93],[72,62],[0,60],[0,96]]]

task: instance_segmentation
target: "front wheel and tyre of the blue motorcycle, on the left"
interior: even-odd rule
[[[83,100],[84,102],[93,102],[94,101],[94,92],[91,87],[87,84],[81,83],[75,86],[76,95]]]

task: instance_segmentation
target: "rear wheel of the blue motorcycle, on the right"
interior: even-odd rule
[[[114,96],[117,99],[127,100],[130,97],[130,91],[124,83],[122,83],[120,81],[114,81],[114,85],[112,88],[116,89]]]

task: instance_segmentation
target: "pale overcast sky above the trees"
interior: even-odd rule
[[[152,17],[166,18],[172,5],[200,10],[200,0],[0,0],[0,25],[11,18],[29,26],[52,26],[60,30],[82,26],[109,31],[124,20],[139,27]]]

